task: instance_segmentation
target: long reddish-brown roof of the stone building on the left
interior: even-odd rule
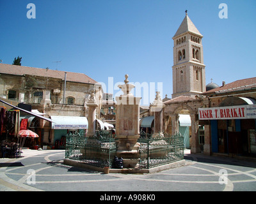
[[[67,72],[68,82],[80,82],[86,84],[96,84],[97,82],[92,78],[84,75],[83,73]],[[65,80],[65,71],[58,71],[52,69],[42,69],[42,68],[31,68],[28,66],[18,66],[12,64],[0,64],[0,73],[8,75],[33,75],[38,77],[52,77],[60,78]]]

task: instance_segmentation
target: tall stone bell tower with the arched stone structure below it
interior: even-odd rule
[[[198,140],[198,108],[203,105],[200,94],[206,88],[202,38],[186,13],[172,38],[173,94],[172,99],[164,101],[164,131],[174,134],[186,127],[182,135],[186,135],[192,153],[202,149]]]

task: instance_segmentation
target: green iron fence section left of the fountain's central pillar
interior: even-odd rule
[[[85,137],[79,133],[66,136],[65,159],[103,168],[111,166],[115,155],[115,138]]]

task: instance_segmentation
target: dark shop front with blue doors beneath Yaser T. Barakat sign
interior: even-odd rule
[[[209,120],[212,152],[256,156],[256,105],[199,108],[199,120]]]

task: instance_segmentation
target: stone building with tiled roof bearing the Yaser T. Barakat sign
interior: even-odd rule
[[[204,125],[204,149],[255,156],[256,77],[223,82],[202,95],[204,106],[199,108],[198,117]]]

